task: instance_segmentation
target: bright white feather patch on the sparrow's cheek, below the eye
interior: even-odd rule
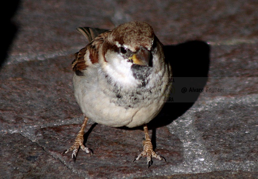
[[[105,54],[106,66],[104,71],[110,76],[115,82],[121,86],[135,86],[136,79],[133,77],[131,62],[125,60],[119,54],[107,51]]]

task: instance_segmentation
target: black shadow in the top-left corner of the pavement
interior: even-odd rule
[[[10,44],[18,30],[18,27],[11,21],[12,16],[15,14],[20,0],[9,0],[5,1],[5,4],[2,5],[2,11],[4,11],[3,21],[2,21],[2,46],[0,53],[0,68],[3,65],[5,59],[7,58],[7,52]],[[4,8],[4,9],[3,9]]]

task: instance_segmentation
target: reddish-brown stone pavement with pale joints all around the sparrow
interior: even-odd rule
[[[258,179],[258,1],[7,3],[0,69],[2,178]],[[75,29],[112,29],[131,20],[153,26],[172,63],[172,100],[150,124],[155,151],[167,163],[153,160],[149,169],[146,158],[131,163],[142,150],[141,128],[93,122],[85,139],[94,155],[81,150],[73,163],[71,153],[61,155],[83,122],[71,62],[87,43]]]

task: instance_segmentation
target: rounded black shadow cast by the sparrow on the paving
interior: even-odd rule
[[[173,78],[183,79],[180,83],[186,87],[203,88],[207,82],[209,71],[210,47],[203,41],[189,41],[178,45],[164,46],[165,58],[172,66]],[[183,78],[181,78],[183,77]],[[170,124],[185,113],[197,100],[201,92],[190,93],[190,102],[184,101],[184,95],[179,95],[175,102],[166,102],[160,114],[149,124],[149,128],[157,128]],[[178,93],[177,93],[178,94]]]

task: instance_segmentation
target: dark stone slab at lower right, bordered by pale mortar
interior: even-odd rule
[[[258,162],[257,103],[222,103],[194,114],[205,147],[220,162]],[[229,111],[231,111],[229,113]],[[221,125],[226,123],[227,125]]]

